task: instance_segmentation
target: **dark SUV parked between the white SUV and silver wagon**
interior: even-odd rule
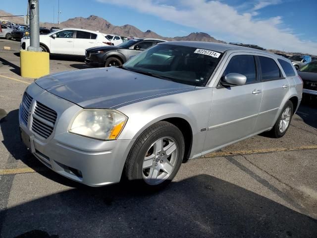
[[[85,63],[99,67],[120,66],[131,57],[164,40],[133,39],[117,46],[99,46],[86,50]]]

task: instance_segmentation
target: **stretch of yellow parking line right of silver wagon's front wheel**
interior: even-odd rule
[[[240,150],[240,151],[228,151],[228,152],[214,152],[201,158],[213,158],[213,157],[221,157],[221,156],[235,156],[235,155],[252,155],[252,154],[264,154],[264,153],[272,153],[279,151],[295,151],[295,150],[315,150],[317,149],[317,145],[307,145],[307,146],[299,146],[293,148],[271,148],[271,149],[261,149],[261,150]]]

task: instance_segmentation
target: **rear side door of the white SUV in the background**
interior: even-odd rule
[[[74,55],[84,56],[85,50],[94,47],[96,44],[96,37],[87,31],[76,31],[76,38],[74,39]],[[94,39],[92,39],[94,38]]]

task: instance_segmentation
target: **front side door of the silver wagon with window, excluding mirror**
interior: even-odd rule
[[[224,68],[221,79],[228,73],[240,73],[247,77],[247,82],[240,86],[222,86],[220,79],[213,88],[205,153],[253,134],[259,114],[263,88],[255,57],[248,53],[232,54]]]

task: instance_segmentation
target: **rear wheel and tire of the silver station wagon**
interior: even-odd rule
[[[289,112],[287,115],[285,114],[286,110],[289,109]],[[284,105],[280,115],[278,116],[273,128],[269,131],[269,134],[273,138],[280,138],[285,135],[286,131],[289,128],[289,125],[291,124],[291,120],[293,117],[293,103],[291,101],[287,101],[286,104]],[[282,120],[282,118],[285,118]],[[285,121],[287,121],[288,118],[288,123],[287,125],[285,124]],[[283,122],[281,122],[281,120]],[[283,128],[281,129],[281,123],[283,123]]]

